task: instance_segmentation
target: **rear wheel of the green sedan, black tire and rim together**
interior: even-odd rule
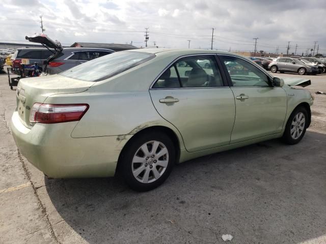
[[[131,189],[149,191],[168,178],[175,163],[175,147],[166,134],[140,134],[127,146],[121,157],[121,173]]]

